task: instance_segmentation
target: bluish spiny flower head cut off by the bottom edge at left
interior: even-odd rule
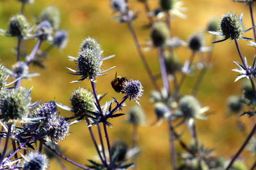
[[[49,167],[49,161],[44,154],[31,152],[24,157],[22,167],[24,170],[45,170]]]

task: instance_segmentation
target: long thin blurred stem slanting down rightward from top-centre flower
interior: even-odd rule
[[[154,85],[156,90],[160,91],[160,88],[157,85],[156,79],[155,79],[155,77],[154,77],[154,75],[153,75],[153,73],[152,73],[152,71],[151,71],[151,69],[150,69],[150,67],[148,65],[146,57],[145,57],[145,55],[144,55],[144,53],[143,53],[143,51],[141,49],[141,45],[139,43],[138,37],[136,35],[136,32],[134,31],[134,27],[132,25],[132,22],[127,22],[127,25],[129,27],[129,30],[131,31],[132,38],[134,39],[135,46],[136,46],[137,51],[138,51],[138,53],[140,55],[140,59],[142,60],[143,66],[145,67],[145,69],[147,71],[147,74],[148,74],[148,76],[149,76],[149,78],[150,78],[150,80],[152,82],[152,85]]]

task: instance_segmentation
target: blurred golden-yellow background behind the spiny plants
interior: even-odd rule
[[[141,43],[146,43],[150,39],[150,31],[145,29],[143,25],[148,24],[145,17],[145,11],[141,3],[136,0],[130,0],[130,8],[138,12],[138,18],[134,20],[134,27],[139,35]],[[149,0],[151,9],[159,7],[157,0]],[[195,32],[204,32],[207,23],[212,17],[221,18],[228,11],[234,11],[237,14],[244,14],[245,27],[252,26],[250,20],[250,11],[246,4],[234,3],[227,1],[211,1],[196,0],[183,1],[184,7],[188,8],[185,12],[186,19],[172,17],[172,35],[179,36],[180,39],[187,41],[189,36]],[[65,67],[76,68],[74,62],[68,60],[67,56],[77,56],[80,44],[84,38],[90,36],[99,41],[104,50],[104,55],[115,54],[113,59],[104,62],[104,69],[116,66],[115,69],[109,71],[106,76],[97,79],[97,90],[100,94],[108,92],[106,100],[111,97],[122,99],[122,94],[116,94],[111,87],[111,80],[115,77],[116,71],[119,76],[125,76],[134,80],[140,80],[144,87],[143,98],[140,101],[141,106],[147,115],[147,122],[150,124],[156,120],[154,114],[154,106],[149,102],[150,91],[153,87],[147,76],[145,69],[141,64],[136,48],[133,43],[132,36],[126,24],[121,24],[113,20],[113,10],[110,8],[110,2],[106,0],[97,1],[68,1],[68,0],[35,0],[34,4],[26,6],[25,15],[28,17],[31,25],[35,24],[36,18],[47,6],[56,6],[61,12],[61,29],[68,31],[68,45],[63,50],[54,50],[49,53],[49,59],[46,60],[46,69],[40,69],[32,66],[30,71],[40,73],[40,76],[31,80],[24,80],[22,85],[33,87],[31,96],[33,101],[58,101],[70,106],[70,95],[77,87],[87,87],[90,89],[88,81],[79,83],[69,83],[77,80],[77,76],[67,74]],[[255,7],[253,7],[255,8]],[[19,13],[20,3],[15,0],[0,0],[0,28],[8,29],[8,21],[12,15]],[[252,38],[253,32],[246,33],[247,37]],[[211,36],[205,35],[206,45],[210,45]],[[31,49],[35,45],[35,40],[28,41],[28,48]],[[247,41],[239,41],[241,44],[243,55],[247,57],[249,63],[253,60],[255,50],[252,46],[248,46]],[[4,66],[12,67],[15,63],[16,56],[14,53],[17,39],[6,38],[0,36],[0,59]],[[44,43],[42,49],[48,45]],[[188,48],[180,47],[176,50],[179,59],[184,62],[188,60],[191,52]],[[154,73],[159,73],[157,51],[152,50],[145,53],[150,67]],[[196,56],[195,60],[198,60]],[[202,106],[209,106],[212,115],[208,120],[196,120],[198,138],[207,148],[214,148],[215,155],[223,155],[230,158],[244,141],[243,134],[237,130],[236,117],[227,117],[227,97],[230,95],[241,94],[241,81],[234,83],[236,73],[231,71],[237,67],[233,61],[239,61],[239,56],[234,43],[218,43],[214,47],[212,69],[210,69],[201,85],[198,93],[198,100]],[[196,74],[196,73],[195,73]],[[161,81],[158,82],[161,85]],[[195,83],[195,76],[189,77],[184,83],[182,94],[190,94],[191,88]],[[127,102],[124,113],[136,103]],[[60,109],[61,115],[65,117],[72,116],[72,113]],[[246,123],[247,131],[252,129],[252,124],[248,117],[242,117],[241,120]],[[113,128],[109,129],[111,142],[118,139],[126,141],[129,145],[132,142],[132,128],[127,124],[125,117],[111,120]],[[96,155],[92,140],[86,128],[85,122],[71,127],[71,133],[65,141],[60,142],[63,155],[79,162],[79,164],[88,164],[87,159],[93,159]],[[182,139],[189,144],[189,134],[186,127],[180,127],[180,131],[184,131]],[[139,129],[141,154],[138,158],[138,169],[170,169],[170,153],[169,153],[169,136],[168,126],[161,124],[153,127],[140,127]],[[178,146],[178,145],[177,145]],[[181,151],[181,148],[179,148]],[[255,159],[243,152],[243,159],[248,165],[252,164]],[[77,169],[72,164],[63,161],[65,166],[70,169]],[[51,160],[50,169],[61,169],[56,163],[56,159]]]

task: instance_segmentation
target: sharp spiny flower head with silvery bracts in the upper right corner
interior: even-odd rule
[[[227,13],[221,19],[220,32],[209,31],[209,33],[218,36],[224,36],[224,39],[221,39],[220,41],[214,41],[213,43],[220,43],[229,38],[231,39],[231,41],[239,38],[244,40],[252,40],[252,38],[246,38],[242,36],[244,32],[250,31],[251,29],[253,29],[253,27],[244,30],[243,14],[239,16],[236,13]]]

